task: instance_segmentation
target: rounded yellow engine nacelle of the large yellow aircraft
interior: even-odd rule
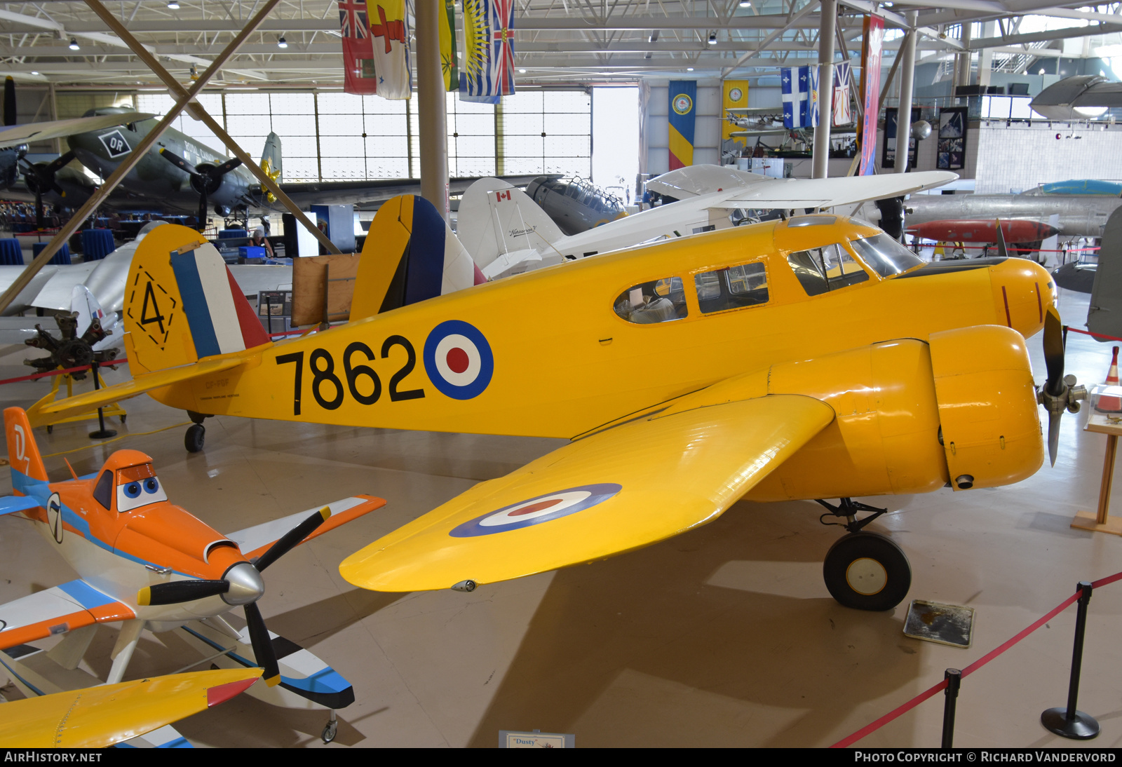
[[[767,394],[837,417],[746,496],[795,500],[1009,484],[1043,461],[1024,339],[996,325],[772,366]]]

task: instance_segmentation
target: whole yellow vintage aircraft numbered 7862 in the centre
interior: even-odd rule
[[[600,560],[741,498],[839,498],[820,501],[849,532],[826,556],[826,583],[843,604],[884,610],[907,594],[910,567],[863,530],[883,509],[852,498],[1034,473],[1043,440],[1024,339],[1041,327],[1040,401],[1057,425],[1078,408],[1056,289],[1027,260],[923,264],[864,221],[813,214],[410,303],[403,284],[421,269],[387,255],[412,259],[434,239],[444,252],[439,221],[420,198],[384,206],[351,321],[280,343],[259,342],[211,246],[160,227],[129,276],[135,379],[28,415],[47,423],[149,391],[200,422],[572,440],[343,562],[348,581],[379,591],[470,591]]]

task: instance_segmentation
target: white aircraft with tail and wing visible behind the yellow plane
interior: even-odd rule
[[[717,165],[691,165],[646,183],[678,202],[571,237],[519,190],[480,178],[463,194],[457,237],[488,279],[675,237],[735,227],[761,211],[822,210],[898,197],[947,184],[946,170],[839,178],[771,178]]]

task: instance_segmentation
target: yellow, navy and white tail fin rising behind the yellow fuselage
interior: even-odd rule
[[[370,223],[355,278],[351,321],[486,281],[431,202],[403,194]]]

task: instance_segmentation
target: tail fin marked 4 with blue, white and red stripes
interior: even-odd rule
[[[123,320],[134,376],[269,343],[214,246],[176,224],[137,246]]]

